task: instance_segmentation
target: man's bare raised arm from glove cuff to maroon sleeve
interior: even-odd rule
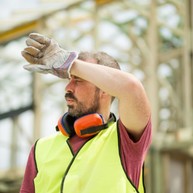
[[[144,88],[132,74],[103,65],[75,60],[70,73],[87,80],[119,101],[119,116],[135,139],[150,119],[150,105]]]

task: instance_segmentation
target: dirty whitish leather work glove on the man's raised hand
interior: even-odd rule
[[[31,33],[26,40],[27,47],[21,52],[30,63],[24,65],[31,72],[50,73],[60,78],[70,76],[70,68],[78,57],[76,52],[62,49],[56,41],[38,33]]]

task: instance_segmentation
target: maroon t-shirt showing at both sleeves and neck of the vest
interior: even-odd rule
[[[151,127],[151,120],[149,120],[140,139],[137,142],[134,142],[121,121],[119,120],[118,122],[121,161],[127,176],[135,187],[138,187],[139,185],[141,168],[151,143]],[[69,142],[74,154],[79,150],[82,144],[85,143],[85,140],[87,139],[80,138],[76,135],[70,139]],[[33,146],[28,157],[20,193],[35,193],[34,178],[36,175],[37,170]]]

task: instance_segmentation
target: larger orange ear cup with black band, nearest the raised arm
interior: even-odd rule
[[[100,114],[89,114],[74,122],[74,130],[79,137],[89,137],[97,134],[103,124],[104,120]]]

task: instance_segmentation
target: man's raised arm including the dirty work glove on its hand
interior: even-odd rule
[[[30,34],[27,45],[22,52],[30,63],[26,69],[52,73],[61,78],[67,78],[70,71],[118,98],[122,123],[136,140],[140,138],[150,119],[150,105],[142,84],[132,74],[78,60],[76,53],[63,50],[56,42],[40,34]]]

